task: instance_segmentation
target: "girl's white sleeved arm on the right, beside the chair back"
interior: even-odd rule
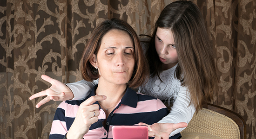
[[[158,123],[180,123],[186,122],[187,124],[192,119],[195,113],[195,107],[193,104],[190,104],[189,91],[186,90],[186,87],[181,87],[177,95],[173,106],[171,107],[170,113],[165,116]],[[185,128],[179,128],[173,131],[170,136],[173,136],[177,133],[182,132]]]

